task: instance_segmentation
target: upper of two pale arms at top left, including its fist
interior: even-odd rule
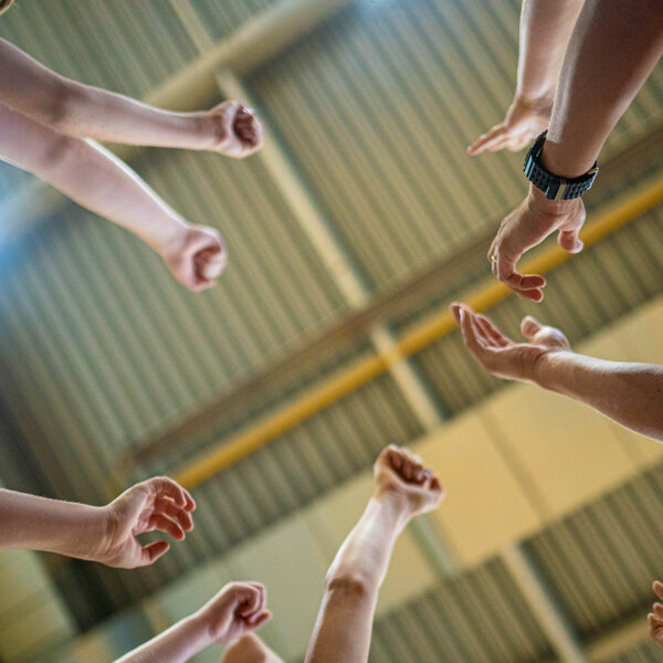
[[[95,140],[215,150],[242,158],[260,149],[263,128],[251,108],[171,113],[46,69],[0,39],[0,99],[60,134]]]

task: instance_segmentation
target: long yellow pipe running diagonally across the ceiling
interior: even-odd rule
[[[591,246],[606,235],[614,232],[629,221],[663,200],[663,179],[644,187],[632,198],[619,202],[607,213],[582,230],[580,236],[586,246]],[[528,274],[544,274],[571,257],[559,246],[552,246],[535,259],[524,263],[522,271]],[[504,284],[492,281],[478,291],[464,297],[475,311],[485,311],[505,299],[512,291]],[[449,311],[434,316],[428,323],[407,334],[388,351],[355,364],[341,375],[327,380],[322,386],[299,398],[276,414],[266,417],[257,424],[239,434],[219,449],[200,455],[185,467],[175,480],[193,488],[214,474],[228,469],[267,442],[293,429],[313,414],[335,403],[344,396],[387,371],[390,366],[406,357],[419,352],[440,337],[455,328],[455,319]]]

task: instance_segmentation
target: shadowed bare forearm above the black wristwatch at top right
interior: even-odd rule
[[[587,0],[569,42],[544,147],[564,177],[591,168],[663,50],[660,0]]]

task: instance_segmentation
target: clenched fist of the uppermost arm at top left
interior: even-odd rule
[[[243,159],[263,146],[264,128],[253,108],[240,102],[223,102],[208,113],[214,127],[214,150]]]

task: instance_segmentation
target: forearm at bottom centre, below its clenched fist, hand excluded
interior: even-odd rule
[[[329,568],[307,662],[368,660],[378,591],[407,523],[397,499],[372,498]]]

